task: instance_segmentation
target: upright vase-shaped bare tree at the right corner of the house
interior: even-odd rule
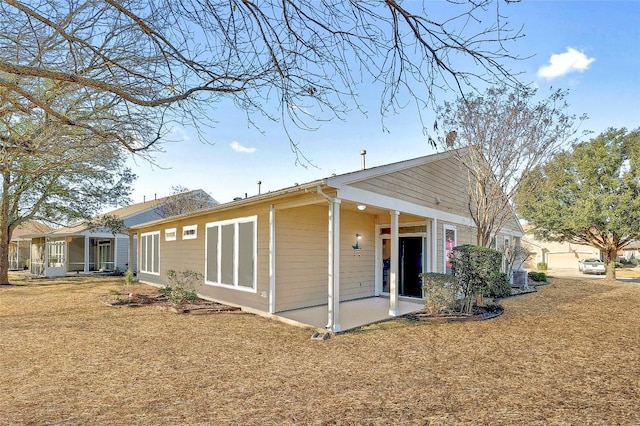
[[[489,246],[515,214],[513,201],[521,177],[575,142],[586,117],[567,112],[566,91],[535,101],[526,87],[489,88],[446,102],[438,111],[445,137],[468,176],[468,210],[476,244]]]

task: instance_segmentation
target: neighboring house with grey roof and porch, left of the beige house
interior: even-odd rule
[[[56,229],[51,232],[32,233],[31,265],[33,275],[55,277],[68,273],[125,271],[129,267],[130,241],[127,228],[166,216],[167,205],[183,200],[193,210],[218,204],[202,190],[189,191],[132,204],[105,213],[120,219],[124,226],[114,234],[106,228],[95,228],[86,222]],[[197,200],[197,203],[194,203]],[[135,259],[133,268],[136,268]]]

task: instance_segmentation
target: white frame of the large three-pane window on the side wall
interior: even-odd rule
[[[240,252],[240,247],[239,247],[239,242],[240,242],[240,235],[238,232],[239,229],[239,225],[241,223],[253,223],[253,286],[252,287],[247,287],[247,286],[242,286],[239,285],[238,283],[238,269],[239,269],[239,252]],[[222,232],[221,229],[223,226],[225,225],[233,225],[234,226],[234,232],[233,232],[233,283],[222,283],[220,282],[220,277],[222,276],[222,262],[221,262],[221,258],[222,258]],[[209,247],[209,229],[210,228],[218,228],[218,241],[216,242],[216,254],[217,254],[217,271],[216,271],[216,277],[209,277],[208,276],[208,262],[209,262],[209,253],[208,253],[208,247]],[[240,218],[236,218],[236,219],[230,219],[230,220],[223,220],[223,221],[219,221],[219,222],[210,222],[207,223],[205,225],[205,243],[204,243],[204,247],[205,247],[205,255],[204,255],[204,271],[205,271],[205,277],[204,277],[204,283],[211,285],[211,286],[215,286],[215,287],[224,287],[224,288],[231,288],[234,290],[240,290],[240,291],[245,291],[248,293],[256,293],[258,291],[258,216],[247,216],[247,217],[240,217]],[[215,279],[212,279],[215,278]]]

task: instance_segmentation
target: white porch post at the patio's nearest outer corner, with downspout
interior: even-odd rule
[[[340,200],[329,200],[329,287],[327,328],[335,333],[340,325]]]

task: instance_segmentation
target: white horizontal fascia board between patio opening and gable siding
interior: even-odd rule
[[[337,196],[342,200],[353,201],[359,204],[369,204],[370,206],[381,207],[388,210],[398,210],[402,213],[409,213],[425,218],[438,219],[466,226],[475,226],[473,220],[469,217],[443,212],[431,207],[421,206],[409,201],[399,200],[387,195],[376,194],[375,192],[365,191],[351,186],[340,188]]]

